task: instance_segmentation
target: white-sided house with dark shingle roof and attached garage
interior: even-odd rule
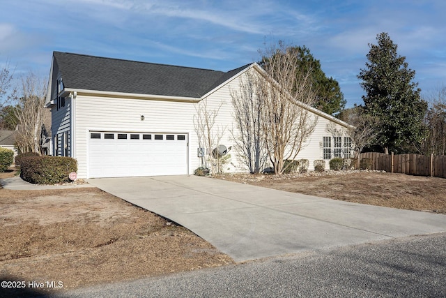
[[[79,178],[193,174],[201,165],[194,128],[197,105],[220,107],[220,144],[232,146],[231,89],[248,64],[229,72],[54,52],[47,94],[52,108],[52,154],[77,159]],[[315,159],[348,156],[351,128],[314,108],[318,124],[300,151],[310,170]],[[243,170],[231,151],[226,171]]]

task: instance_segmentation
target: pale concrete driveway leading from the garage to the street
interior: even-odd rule
[[[196,176],[89,179],[171,219],[237,262],[446,231],[446,216]]]

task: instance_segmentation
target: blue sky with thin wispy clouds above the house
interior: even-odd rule
[[[0,0],[0,66],[47,76],[53,51],[231,70],[284,40],[305,45],[347,107],[369,43],[388,32],[422,96],[446,85],[446,1]]]

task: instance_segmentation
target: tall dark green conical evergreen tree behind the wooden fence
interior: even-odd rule
[[[413,151],[426,137],[423,118],[426,101],[420,98],[415,70],[406,57],[397,54],[397,45],[385,32],[376,36],[378,45],[369,44],[366,68],[357,76],[366,96],[367,113],[379,120],[378,144],[395,153]]]

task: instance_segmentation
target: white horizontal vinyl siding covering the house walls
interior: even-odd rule
[[[207,100],[208,110],[220,108],[215,118],[214,132],[217,130],[224,132],[222,133],[220,144],[225,145],[227,148],[234,147],[231,131],[236,132],[237,128],[232,116],[231,89],[237,89],[238,87],[239,79],[236,77],[203,99]],[[167,135],[184,133],[187,135],[186,141],[189,144],[187,151],[187,174],[193,174],[194,170],[201,165],[201,158],[197,156],[197,149],[200,146],[193,121],[197,114],[197,105],[199,103],[187,101],[89,96],[78,91],[75,98],[75,122],[72,126],[75,128],[72,137],[75,137],[74,143],[76,146],[75,151],[70,153],[77,159],[78,177],[91,177],[88,168],[90,164],[89,158],[91,158],[89,152],[92,149],[90,148],[89,133],[92,131],[102,133],[126,132],[129,133],[128,141],[132,140],[130,133],[139,134],[139,140],[133,139],[134,141],[143,141],[144,134],[147,132],[160,133],[164,135],[164,142],[167,141]],[[58,121],[60,124],[53,133],[63,133],[69,127],[70,107],[71,98],[68,97],[66,107],[56,113],[54,113],[55,109],[53,109],[53,115],[55,116],[53,127],[57,127],[55,124]],[[141,116],[144,116],[144,120]],[[314,169],[314,160],[324,159],[322,141],[323,137],[328,136],[327,125],[332,123],[329,116],[321,117],[314,114],[314,118],[317,119],[314,133],[307,138],[296,158],[308,159],[309,170]],[[339,124],[336,124],[336,127],[344,129]],[[70,140],[70,137],[68,135],[68,140]],[[105,135],[102,135],[102,138],[105,138]],[[116,140],[117,135],[114,135],[114,138]],[[155,140],[155,135],[151,135],[151,140]],[[330,142],[332,140],[333,138],[331,138]],[[128,150],[128,154],[133,154],[132,149]],[[228,154],[231,155],[231,158],[229,158],[229,163],[223,168],[224,172],[246,171],[245,165],[240,163],[239,152],[232,149]],[[118,176],[121,176],[121,174],[116,174],[116,177]]]

